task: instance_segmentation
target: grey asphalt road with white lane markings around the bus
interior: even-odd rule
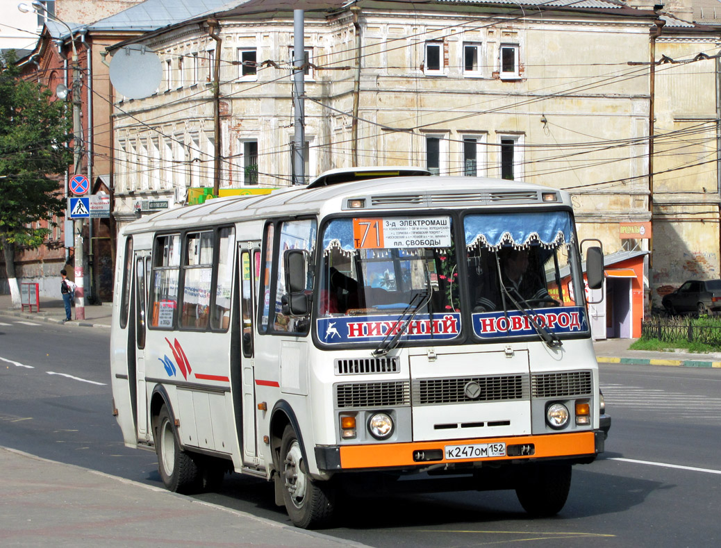
[[[110,413],[108,342],[0,315],[0,445],[160,485],[154,454],[125,448]],[[604,365],[601,384],[606,453],[575,467],[558,516],[528,519],[513,492],[366,496],[324,533],[377,547],[721,544],[721,371]],[[197,498],[288,523],[271,486],[239,474]]]

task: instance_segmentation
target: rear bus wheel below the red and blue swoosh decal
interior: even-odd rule
[[[172,417],[166,405],[156,422],[155,451],[163,485],[172,492],[193,492],[198,488],[199,470],[195,461],[180,448]]]

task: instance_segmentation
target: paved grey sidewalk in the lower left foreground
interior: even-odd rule
[[[4,547],[363,546],[1,446],[0,469]]]

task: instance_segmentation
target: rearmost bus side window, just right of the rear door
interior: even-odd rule
[[[180,234],[159,236],[153,249],[150,326],[172,329],[178,302]]]

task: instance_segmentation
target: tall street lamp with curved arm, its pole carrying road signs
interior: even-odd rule
[[[73,49],[72,66],[73,66],[73,85],[72,85],[72,97],[73,97],[73,174],[79,174],[80,172],[80,154],[81,154],[81,125],[80,125],[80,112],[82,108],[82,100],[80,97],[80,89],[82,86],[81,82],[81,71],[80,61],[78,60],[78,50],[75,48],[75,35],[73,30],[66,22],[62,19],[58,19],[55,14],[48,12],[45,8],[45,4],[40,1],[33,0],[30,5],[18,4],[17,9],[22,13],[30,12],[45,12],[45,15],[54,19],[60,23],[70,33],[70,45]],[[64,100],[67,97],[68,89],[63,86],[58,93],[58,98]],[[61,97],[62,95],[62,97]],[[85,319],[85,290],[84,290],[84,253],[83,253],[83,219],[77,219],[75,221],[75,283],[77,288],[75,290],[75,319]]]

